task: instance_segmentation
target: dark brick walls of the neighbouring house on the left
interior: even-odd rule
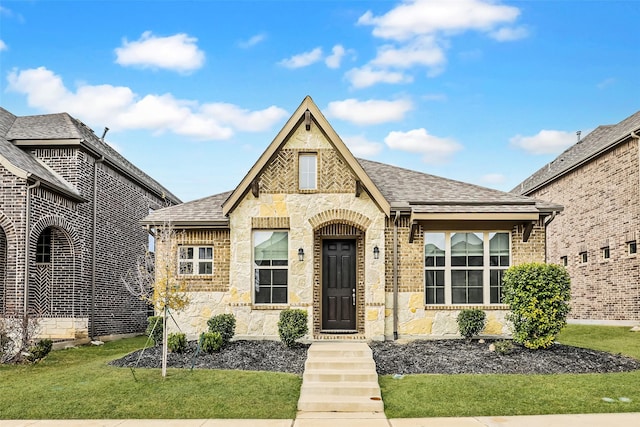
[[[39,311],[46,308],[47,317],[86,319],[91,301],[95,159],[82,149],[69,147],[36,148],[31,154],[73,184],[88,202],[77,203],[43,187],[31,190],[30,293],[38,300]],[[24,304],[27,183],[1,166],[0,178],[0,227],[7,242],[0,241],[0,260],[2,251],[6,257],[4,270],[0,269],[0,277],[5,275],[0,282],[0,308],[11,315],[21,313]],[[129,294],[120,278],[135,268],[138,256],[146,250],[148,235],[139,220],[150,208],[165,203],[104,163],[98,165],[97,196],[95,335],[140,332],[146,327],[146,304]],[[36,268],[36,243],[46,228],[53,231],[52,263]]]

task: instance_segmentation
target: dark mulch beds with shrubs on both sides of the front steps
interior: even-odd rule
[[[421,340],[408,343],[372,342],[379,374],[562,374],[625,372],[640,369],[640,361],[601,351],[554,344],[547,350],[514,346],[511,354],[489,350],[491,340]],[[308,345],[287,348],[279,341],[232,341],[220,352],[196,354],[196,342],[185,353],[169,353],[172,368],[241,369],[301,375]],[[141,356],[142,354],[142,356]],[[147,348],[111,362],[121,367],[159,368],[162,350]]]

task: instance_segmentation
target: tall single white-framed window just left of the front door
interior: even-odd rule
[[[286,304],[289,289],[289,232],[253,232],[254,302]]]

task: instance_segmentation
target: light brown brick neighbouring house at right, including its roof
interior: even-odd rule
[[[512,192],[565,207],[547,233],[548,261],[571,275],[575,321],[640,321],[640,111],[599,126]]]

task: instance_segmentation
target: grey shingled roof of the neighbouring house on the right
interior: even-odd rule
[[[615,125],[598,126],[533,175],[518,184],[512,193],[531,194],[640,132],[640,111]]]

